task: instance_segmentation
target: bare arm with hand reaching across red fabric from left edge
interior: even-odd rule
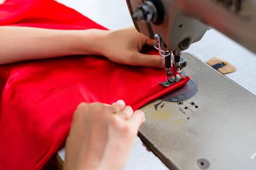
[[[145,37],[134,27],[106,31],[0,26],[0,65],[90,54],[105,56],[119,64],[162,68],[159,55],[140,53],[145,44],[153,45],[154,40]]]

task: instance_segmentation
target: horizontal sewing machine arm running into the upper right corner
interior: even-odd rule
[[[255,0],[180,0],[184,14],[195,17],[256,54]]]

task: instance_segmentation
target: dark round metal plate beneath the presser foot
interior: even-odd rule
[[[183,74],[183,77],[186,77],[186,74],[183,72],[180,72],[180,74]],[[190,79],[186,85],[183,85],[182,87],[161,96],[159,99],[166,102],[182,102],[194,96],[196,91],[197,85],[193,79]]]

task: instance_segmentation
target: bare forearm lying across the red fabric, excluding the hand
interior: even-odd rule
[[[102,55],[108,31],[0,26],[0,64],[78,54]]]

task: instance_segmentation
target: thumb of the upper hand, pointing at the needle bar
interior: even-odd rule
[[[137,52],[134,58],[136,58],[137,65],[163,68],[163,64],[159,55],[141,54],[140,52]]]

